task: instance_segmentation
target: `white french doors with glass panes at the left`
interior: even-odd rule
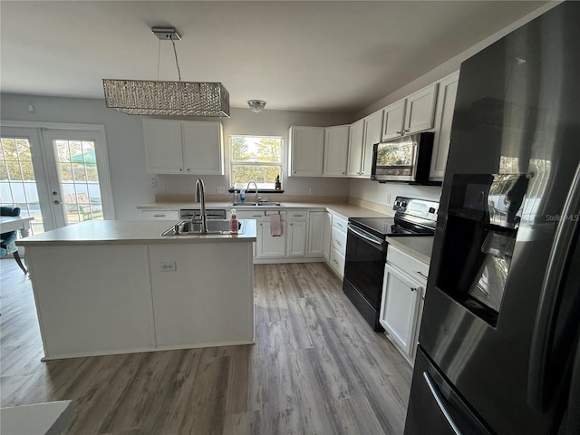
[[[34,216],[33,232],[112,219],[104,132],[2,127],[0,201]]]

